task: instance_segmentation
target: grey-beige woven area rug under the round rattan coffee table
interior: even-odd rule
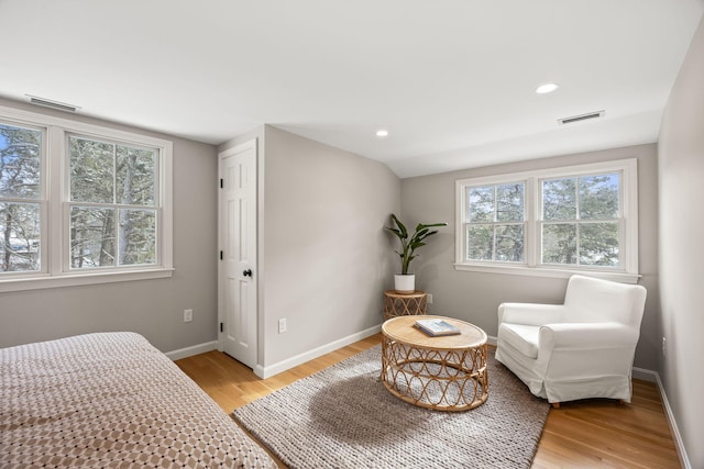
[[[233,412],[290,468],[528,468],[549,404],[494,359],[488,399],[466,412],[417,407],[380,380],[381,345]]]

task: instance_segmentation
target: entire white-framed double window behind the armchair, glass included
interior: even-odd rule
[[[636,159],[457,181],[459,270],[636,281]]]

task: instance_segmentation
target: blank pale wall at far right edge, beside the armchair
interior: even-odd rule
[[[691,467],[704,468],[704,20],[660,130],[661,334],[659,371]]]

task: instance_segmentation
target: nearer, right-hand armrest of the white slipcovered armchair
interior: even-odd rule
[[[625,348],[634,347],[640,331],[616,322],[560,323],[540,327],[540,348]]]

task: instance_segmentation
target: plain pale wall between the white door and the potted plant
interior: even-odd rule
[[[265,126],[260,138],[260,365],[274,367],[382,322],[400,181],[384,165]],[[288,332],[278,334],[286,317]]]

